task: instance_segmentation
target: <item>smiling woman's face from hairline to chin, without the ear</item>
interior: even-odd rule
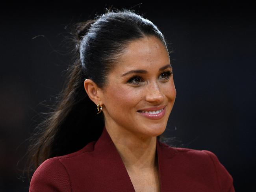
[[[161,135],[175,97],[165,46],[153,36],[135,40],[108,75],[108,85],[101,98],[105,126],[139,137]],[[152,107],[163,111],[149,109]]]

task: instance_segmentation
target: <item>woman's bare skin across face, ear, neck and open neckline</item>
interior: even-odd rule
[[[108,74],[108,85],[99,89],[91,79],[84,87],[95,103],[103,105],[105,126],[126,167],[136,192],[160,192],[156,136],[165,131],[173,108],[176,90],[173,75],[165,73],[171,68],[169,53],[162,42],[147,36],[130,42],[113,71]],[[147,74],[122,74],[130,70],[146,70]],[[138,81],[132,76],[140,76]],[[168,76],[167,76],[168,77]],[[132,82],[129,82],[131,81]],[[138,110],[166,105],[165,115],[158,120],[149,119]]]

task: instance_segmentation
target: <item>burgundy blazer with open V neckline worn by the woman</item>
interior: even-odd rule
[[[233,178],[216,155],[157,141],[161,192],[234,192]],[[29,192],[135,192],[106,127],[97,141],[44,161]]]

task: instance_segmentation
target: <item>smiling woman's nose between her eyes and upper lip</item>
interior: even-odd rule
[[[151,103],[162,103],[164,100],[164,95],[160,90],[157,82],[152,82],[148,89],[146,90],[146,101]]]

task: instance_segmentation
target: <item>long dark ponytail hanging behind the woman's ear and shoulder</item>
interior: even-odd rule
[[[80,40],[95,20],[76,24],[73,34],[74,51],[79,55]],[[64,89],[59,93],[54,111],[36,128],[30,138],[30,166],[36,169],[48,158],[80,150],[91,141],[97,140],[104,127],[103,113],[97,114],[96,105],[87,95],[81,61],[78,57],[70,65]]]

